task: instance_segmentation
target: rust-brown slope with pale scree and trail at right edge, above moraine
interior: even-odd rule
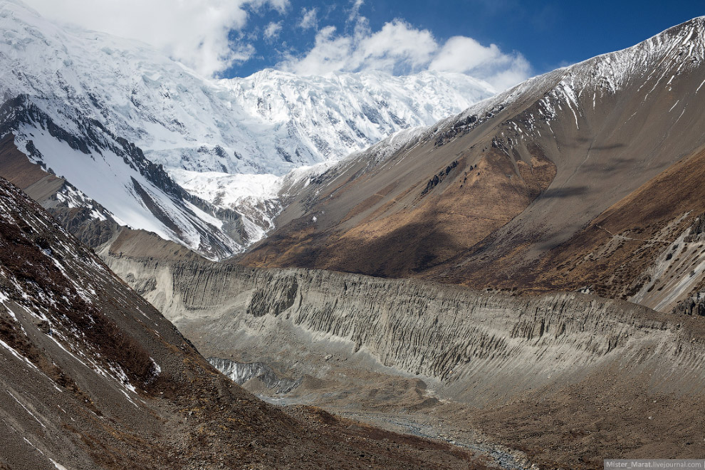
[[[476,254],[456,259],[471,259],[480,266],[491,263],[493,270],[468,276],[451,261],[450,268],[439,266],[436,272],[450,280],[500,288],[589,289],[670,311],[677,300],[701,288],[704,178],[705,151],[700,151],[614,204],[522,273],[510,267],[517,261],[516,252],[483,261],[477,259],[482,246]],[[486,243],[491,246],[491,241]],[[682,286],[674,285],[684,279]]]

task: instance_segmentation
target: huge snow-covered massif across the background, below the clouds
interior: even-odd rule
[[[72,103],[167,168],[282,175],[494,94],[454,73],[209,80],[136,41],[59,27],[19,4],[0,12],[1,91]]]

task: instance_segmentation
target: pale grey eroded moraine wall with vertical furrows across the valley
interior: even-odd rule
[[[315,373],[335,351],[431,377],[476,404],[615,360],[626,370],[705,372],[691,368],[705,352],[681,318],[578,293],[527,298],[325,271],[106,259],[207,354],[248,350],[285,370]],[[302,360],[308,366],[295,366]]]

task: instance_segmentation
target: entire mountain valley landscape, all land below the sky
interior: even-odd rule
[[[0,469],[705,455],[704,17],[498,94],[0,23]]]

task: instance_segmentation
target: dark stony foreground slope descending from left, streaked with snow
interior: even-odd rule
[[[0,209],[2,468],[474,465],[445,444],[264,404],[5,179]]]

